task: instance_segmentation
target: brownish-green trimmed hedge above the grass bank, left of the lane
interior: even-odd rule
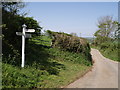
[[[91,60],[90,46],[86,39],[62,32],[47,31],[47,33],[52,37],[52,47],[75,53],[83,53]]]

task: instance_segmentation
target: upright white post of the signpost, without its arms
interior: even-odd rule
[[[21,64],[21,67],[24,67],[25,65],[25,30],[26,30],[26,25],[22,25],[23,27],[23,35],[22,35],[22,64]]]

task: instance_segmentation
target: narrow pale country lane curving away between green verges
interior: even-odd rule
[[[91,50],[91,55],[92,71],[66,88],[118,88],[118,62],[103,57],[96,49]]]

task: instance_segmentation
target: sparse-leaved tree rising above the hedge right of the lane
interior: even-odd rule
[[[98,19],[98,30],[94,33],[96,43],[100,44],[115,38],[118,22],[112,16],[104,16]]]

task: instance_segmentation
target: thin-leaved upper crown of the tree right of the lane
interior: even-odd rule
[[[97,26],[99,30],[95,33],[95,36],[113,37],[117,28],[117,21],[113,20],[111,16],[104,16],[98,19]]]

